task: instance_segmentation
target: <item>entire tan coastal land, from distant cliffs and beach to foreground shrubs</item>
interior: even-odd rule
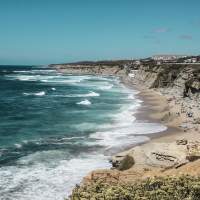
[[[127,87],[140,91],[143,106],[138,118],[168,127],[147,143],[113,155],[112,169],[84,177],[72,200],[170,199],[173,195],[171,199],[200,199],[200,64],[121,60],[51,67],[62,73],[120,76]]]

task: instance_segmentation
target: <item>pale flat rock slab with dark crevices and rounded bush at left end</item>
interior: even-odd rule
[[[113,156],[111,163],[119,170],[141,168],[141,166],[146,169],[156,167],[165,170],[178,168],[199,158],[200,143],[180,139],[172,143],[152,143],[151,148],[149,146],[146,148],[145,145],[134,147],[130,152]],[[121,169],[122,166],[124,168]]]

